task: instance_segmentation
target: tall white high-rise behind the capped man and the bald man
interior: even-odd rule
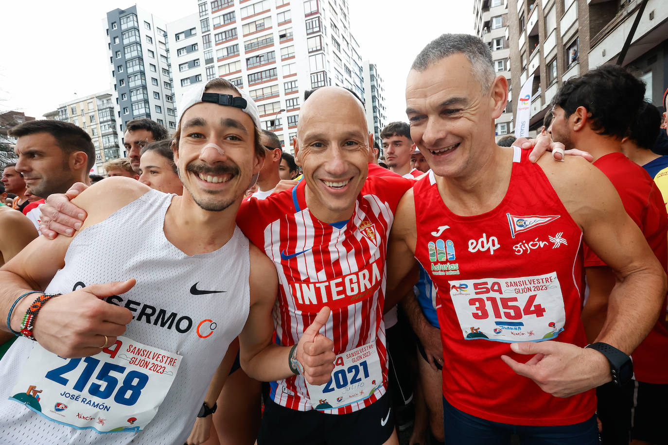
[[[197,7],[196,17],[167,27],[177,104],[188,86],[224,77],[248,91],[263,129],[293,153],[305,91],[340,85],[364,97],[347,0],[198,0]]]

